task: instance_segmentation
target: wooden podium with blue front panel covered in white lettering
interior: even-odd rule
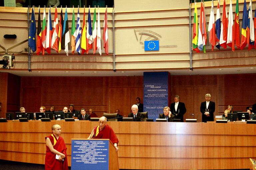
[[[109,139],[71,139],[71,170],[119,170],[118,155]]]

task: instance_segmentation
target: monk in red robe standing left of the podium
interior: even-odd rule
[[[68,170],[67,147],[64,139],[59,136],[61,127],[57,124],[53,125],[52,132],[53,134],[45,137],[45,170]]]

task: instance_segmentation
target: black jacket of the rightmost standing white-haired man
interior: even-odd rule
[[[214,121],[213,113],[215,112],[215,103],[210,101],[208,109],[206,109],[206,101],[201,103],[200,111],[202,113],[202,122]],[[209,112],[210,116],[207,117],[204,113]]]

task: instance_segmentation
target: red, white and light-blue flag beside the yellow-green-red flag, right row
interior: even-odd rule
[[[200,18],[199,18],[199,29],[198,29],[198,49],[204,51],[205,53],[205,44],[206,44],[206,21],[205,21],[205,12],[203,8],[203,1],[201,1],[200,8]]]

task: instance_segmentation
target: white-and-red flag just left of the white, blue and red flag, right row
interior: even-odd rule
[[[209,42],[212,44],[212,51],[214,45],[216,45],[216,35],[215,35],[215,23],[214,23],[214,8],[213,8],[213,0],[212,0],[212,7],[211,7],[211,14],[210,14],[210,21],[208,31],[210,32]]]

